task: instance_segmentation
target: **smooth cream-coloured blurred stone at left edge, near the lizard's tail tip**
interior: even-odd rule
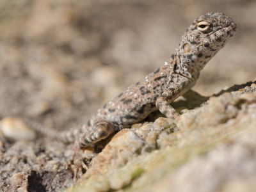
[[[35,131],[29,127],[20,118],[5,117],[0,122],[0,131],[10,140],[34,140]]]

